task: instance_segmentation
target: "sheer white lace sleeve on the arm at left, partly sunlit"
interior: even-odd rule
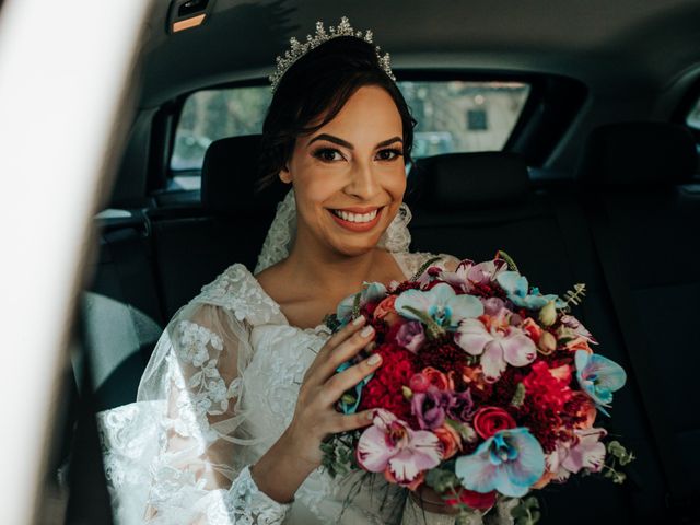
[[[207,302],[183,307],[159,340],[137,402],[101,415],[117,523],[284,520],[290,505],[259,491],[247,467],[258,440],[243,424],[250,409],[242,373],[252,358],[244,317]]]

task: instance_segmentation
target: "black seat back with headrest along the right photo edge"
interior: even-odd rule
[[[629,132],[625,139],[622,130]],[[700,469],[700,457],[695,453],[700,443],[700,393],[690,386],[700,369],[700,334],[693,328],[700,275],[691,262],[700,257],[700,236],[695,233],[700,228],[700,195],[681,185],[695,173],[696,144],[688,140],[686,130],[658,122],[640,124],[639,129],[631,124],[612,131],[606,127],[594,135],[598,139],[591,141],[584,153],[584,159],[593,160],[584,168],[595,165],[597,174],[583,173],[587,176],[582,178],[582,195],[597,207],[616,241],[632,314],[645,341],[642,348],[629,351],[653,363],[654,395],[662,399],[664,421],[651,424],[670,427],[667,446],[687,472],[680,472],[684,479],[677,481],[700,491],[700,479],[690,476]],[[654,137],[662,145],[652,149],[651,142],[643,144],[648,148],[639,154],[645,163],[643,176],[640,184],[632,185],[619,170],[626,163],[626,148],[641,136]],[[606,144],[605,154],[600,154],[598,140]],[[649,389],[650,385],[640,387]]]

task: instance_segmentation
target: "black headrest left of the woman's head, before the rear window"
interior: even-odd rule
[[[201,168],[201,205],[213,214],[275,210],[289,187],[281,182],[256,191],[260,135],[212,142]]]

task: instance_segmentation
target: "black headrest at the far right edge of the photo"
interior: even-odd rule
[[[576,178],[590,185],[676,185],[692,178],[696,141],[686,127],[669,122],[620,122],[588,136]]]

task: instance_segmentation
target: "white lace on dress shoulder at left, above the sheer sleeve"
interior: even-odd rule
[[[259,284],[250,285],[249,277],[244,265],[232,265],[213,282],[202,287],[195,301],[222,306],[233,312],[236,319],[246,319],[253,325],[269,323],[280,315],[280,306]]]

